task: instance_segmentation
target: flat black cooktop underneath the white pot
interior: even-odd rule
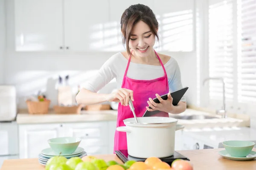
[[[116,156],[123,162],[125,163],[126,161],[130,161],[130,160],[134,160],[134,161],[145,161],[146,159],[142,159],[142,158],[136,158],[133,156],[130,156],[128,154],[128,150],[116,150],[115,151]],[[166,162],[167,164],[171,165],[172,162],[175,159],[183,159],[183,160],[187,160],[190,161],[190,159],[188,159],[186,156],[183,156],[182,154],[174,151],[174,154],[172,156],[166,157],[166,158],[160,158],[162,161]]]

